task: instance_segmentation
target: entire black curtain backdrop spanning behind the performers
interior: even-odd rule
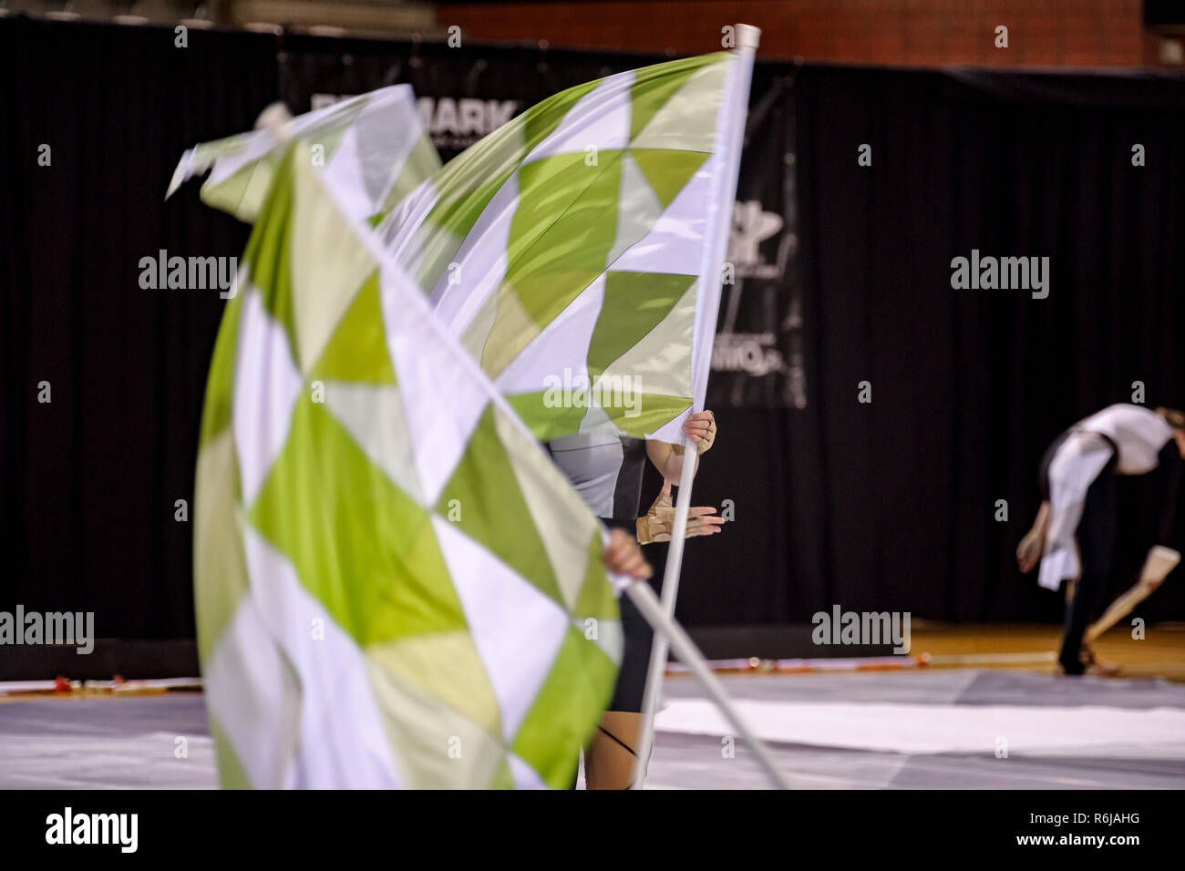
[[[521,111],[660,59],[188,39],[178,49],[169,28],[0,20],[0,544],[11,568],[0,609],[94,610],[107,638],[193,633],[192,526],[174,520],[174,502],[188,500],[192,518],[223,301],[142,290],[139,261],[159,249],[237,256],[246,228],[203,206],[197,182],[162,201],[181,152],[249,129],[281,96],[303,111],[313,94],[410,82],[422,97]],[[760,64],[754,104],[775,87],[786,102],[767,117],[786,128],[769,135],[787,141],[796,173],[790,187],[770,184],[798,196],[801,269],[782,281],[800,300],[802,406],[715,409],[719,436],[694,501],[730,500],[736,523],[688,544],[680,619],[807,622],[840,604],[1058,620],[1059,597],[1011,556],[1036,511],[1042,450],[1078,417],[1129,401],[1134,380],[1148,404],[1185,404],[1174,344],[1185,82]],[[38,166],[41,143],[51,167]],[[857,164],[861,143],[871,167]],[[1133,143],[1146,166],[1132,166]],[[745,190],[760,196],[760,184]],[[973,248],[1049,256],[1049,299],[952,289],[950,258]],[[781,312],[774,286],[748,288]],[[51,404],[37,401],[41,380]],[[857,401],[861,380],[871,404]],[[999,499],[1007,523],[994,519]],[[1128,501],[1139,507],[1139,494]],[[1144,613],[1185,617],[1185,583],[1171,579]]]

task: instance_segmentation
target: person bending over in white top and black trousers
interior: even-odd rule
[[[1145,563],[1140,582],[1113,607],[1115,623],[1159,585],[1180,555],[1166,545],[1172,536],[1181,457],[1185,456],[1185,415],[1180,411],[1117,404],[1087,417],[1059,435],[1042,457],[1039,485],[1044,501],[1029,534],[1017,547],[1020,571],[1040,562],[1038,583],[1056,590],[1062,581],[1075,582],[1068,591],[1062,629],[1059,672],[1113,673],[1096,666],[1083,634],[1114,570],[1117,529],[1116,475],[1149,475],[1160,506],[1158,546]],[[1142,595],[1139,595],[1141,594]],[[1120,606],[1120,602],[1116,602]],[[1122,611],[1122,613],[1120,613]],[[1117,616],[1116,616],[1117,614]],[[1106,620],[1101,620],[1104,623]],[[1096,625],[1097,627],[1098,625]]]

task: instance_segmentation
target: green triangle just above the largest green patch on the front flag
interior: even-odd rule
[[[364,384],[396,383],[386,346],[377,269],[354,295],[310,377]]]

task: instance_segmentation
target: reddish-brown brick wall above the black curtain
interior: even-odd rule
[[[444,4],[472,39],[557,46],[719,47],[720,27],[762,28],[761,55],[873,64],[1139,66],[1157,63],[1141,0],[551,0]],[[995,27],[1008,27],[997,49]]]

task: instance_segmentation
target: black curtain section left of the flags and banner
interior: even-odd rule
[[[192,524],[174,502],[192,510],[223,301],[141,289],[140,258],[242,251],[248,228],[198,185],[164,197],[186,147],[250,129],[275,98],[274,41],[0,20],[2,609],[193,635]]]

